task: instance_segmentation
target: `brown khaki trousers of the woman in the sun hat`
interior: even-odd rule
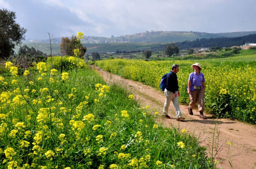
[[[188,108],[194,109],[195,106],[196,106],[197,99],[198,99],[198,111],[204,112],[204,110],[205,110],[205,99],[204,99],[205,98],[205,92],[204,92],[204,89],[190,91],[190,94],[192,96],[192,99],[193,99],[194,103],[192,101],[190,101]]]

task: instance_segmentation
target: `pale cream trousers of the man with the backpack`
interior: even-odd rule
[[[179,108],[179,95],[178,95],[178,91],[175,92],[177,94],[177,97],[174,97],[174,93],[168,90],[164,90],[164,95],[165,95],[165,103],[164,103],[164,108],[163,108],[163,116],[166,116],[168,114],[168,109],[169,109],[169,105],[171,100],[173,101],[173,106],[175,108],[175,112],[176,112],[176,117],[180,118],[181,117],[181,111]]]

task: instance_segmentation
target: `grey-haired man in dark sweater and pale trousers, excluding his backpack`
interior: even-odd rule
[[[179,86],[178,86],[178,79],[176,73],[179,71],[179,65],[174,64],[172,65],[172,71],[170,71],[166,76],[166,88],[164,90],[165,94],[165,103],[163,108],[163,116],[164,118],[170,119],[168,116],[168,109],[170,105],[170,101],[173,101],[173,106],[175,108],[177,121],[183,120],[185,118],[181,117],[181,111],[179,108]]]

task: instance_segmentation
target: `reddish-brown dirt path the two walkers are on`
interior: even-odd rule
[[[109,83],[118,83],[124,87],[131,90],[131,92],[136,96],[136,99],[140,101],[142,105],[149,105],[152,111],[161,112],[165,96],[161,91],[157,91],[153,87],[144,85],[140,82],[135,82],[132,80],[127,80],[121,78],[120,76],[110,74],[109,72],[102,71],[98,67],[92,66],[93,69],[97,70],[99,74],[103,76],[105,81]],[[215,119],[207,116],[207,120],[200,119],[199,112],[193,110],[194,115],[188,114],[187,105],[180,105],[180,110],[182,111],[182,116],[191,121],[178,122],[176,121],[175,111],[172,103],[169,107],[168,115],[171,119],[159,118],[159,122],[162,122],[168,127],[176,127],[182,129],[187,129],[188,132],[193,133],[198,137],[200,145],[207,147],[208,155],[210,156],[212,147],[212,128],[215,126]],[[243,169],[255,169],[256,168],[256,128],[255,126],[248,125],[239,121],[234,121],[230,119],[219,119],[217,126],[218,144],[214,144],[214,150],[218,151],[215,160],[220,163],[217,165],[218,168],[231,168],[228,161],[231,161],[233,168],[243,168]],[[211,132],[211,133],[210,133]],[[228,149],[227,142],[231,142],[230,150]],[[218,145],[217,149],[216,146]],[[231,158],[228,154],[231,152]],[[216,152],[214,152],[216,154]],[[231,160],[230,160],[231,159]]]

